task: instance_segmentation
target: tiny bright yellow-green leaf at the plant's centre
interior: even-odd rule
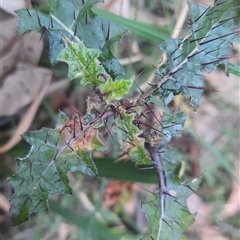
[[[110,104],[113,100],[120,100],[129,92],[132,82],[133,79],[113,81],[111,78],[108,78],[107,81],[100,86],[100,90],[106,103]]]

